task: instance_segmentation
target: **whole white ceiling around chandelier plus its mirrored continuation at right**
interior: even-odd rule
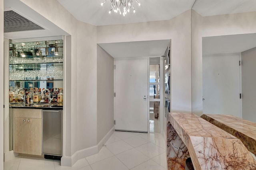
[[[170,20],[183,12],[193,10],[202,16],[234,14],[256,11],[256,0],[138,0],[136,13],[126,16],[111,13],[110,0],[58,0],[77,20],[92,25],[114,25],[147,21]],[[196,2],[195,2],[196,1]]]

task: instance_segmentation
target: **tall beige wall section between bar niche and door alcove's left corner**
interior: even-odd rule
[[[77,26],[76,150],[82,150],[97,145],[97,45],[96,26]]]

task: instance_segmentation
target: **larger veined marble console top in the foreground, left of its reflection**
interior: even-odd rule
[[[168,121],[188,148],[195,170],[256,170],[242,142],[192,113],[170,113]]]

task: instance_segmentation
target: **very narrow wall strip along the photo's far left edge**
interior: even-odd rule
[[[0,0],[0,78],[4,80],[4,1]],[[1,81],[0,89],[4,89]],[[4,94],[0,93],[0,106],[4,106]],[[0,107],[0,169],[4,169],[4,108]]]

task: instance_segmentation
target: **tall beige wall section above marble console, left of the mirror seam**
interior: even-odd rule
[[[191,113],[191,10],[170,20],[171,112]]]

